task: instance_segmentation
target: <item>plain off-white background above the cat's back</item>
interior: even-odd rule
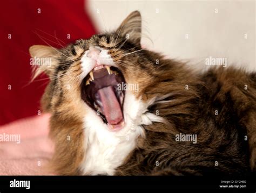
[[[207,68],[205,59],[210,56],[227,58],[227,66],[256,70],[255,1],[92,0],[87,9],[99,32],[114,30],[139,10],[143,35],[152,40],[144,37],[142,44],[169,58],[189,60],[201,69]]]

